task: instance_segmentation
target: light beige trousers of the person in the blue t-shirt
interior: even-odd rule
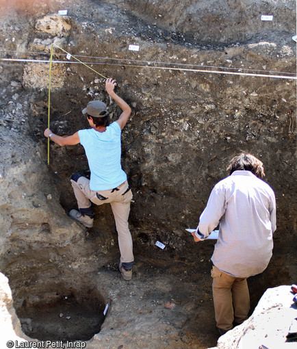
[[[71,184],[73,186],[73,191],[75,193],[75,198],[77,199],[79,209],[90,207],[91,201],[95,205],[110,203],[112,213],[114,214],[114,220],[116,222],[116,231],[118,232],[120,261],[122,263],[129,263],[133,261],[133,243],[128,224],[130,203],[133,195],[131,190],[126,192],[129,187],[128,182],[125,181],[124,183],[118,185],[118,190],[101,190],[98,192],[90,190],[90,180],[86,177],[79,177],[77,182],[71,179]],[[97,194],[99,194],[99,197],[101,195],[106,199],[100,200]]]

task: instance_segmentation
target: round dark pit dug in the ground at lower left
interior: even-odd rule
[[[101,330],[105,300],[96,289],[57,287],[46,284],[38,294],[28,293],[16,307],[23,332],[40,341],[88,341]],[[29,289],[28,289],[29,292]]]

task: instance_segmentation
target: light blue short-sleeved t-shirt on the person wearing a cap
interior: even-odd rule
[[[112,122],[105,132],[94,129],[79,130],[79,141],[85,148],[91,171],[90,190],[116,188],[127,179],[120,165],[121,129],[118,122]]]

